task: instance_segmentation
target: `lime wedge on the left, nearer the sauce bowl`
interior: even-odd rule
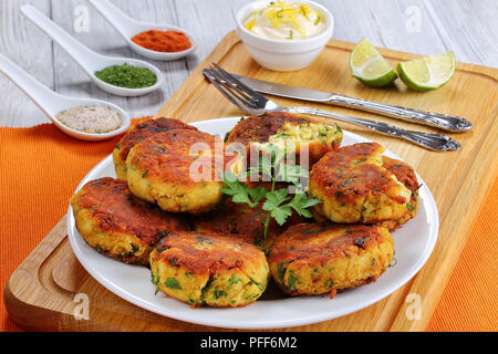
[[[396,80],[396,72],[365,38],[356,44],[350,58],[353,77],[371,87],[383,87]]]

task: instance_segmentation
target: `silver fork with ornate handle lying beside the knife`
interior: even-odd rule
[[[458,150],[461,147],[458,142],[449,136],[438,133],[406,131],[383,122],[355,118],[311,107],[283,107],[245,85],[215,63],[211,67],[204,69],[203,73],[232,104],[255,116],[268,112],[318,115],[360,125],[384,135],[409,140],[432,150]]]

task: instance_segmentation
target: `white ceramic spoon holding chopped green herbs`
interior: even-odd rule
[[[141,96],[147,93],[151,93],[160,87],[163,84],[163,74],[162,72],[154,65],[146,63],[144,61],[139,61],[136,59],[129,58],[114,58],[114,56],[105,56],[94,51],[90,50],[79,41],[76,41],[73,37],[71,37],[68,32],[56,25],[52,20],[41,13],[39,10],[33,8],[32,6],[23,6],[21,7],[22,13],[33,21],[43,32],[45,32],[52,40],[54,40],[61,48],[71,55],[71,58],[80,64],[80,66],[89,74],[92,81],[102,90],[120,95],[120,96]],[[103,82],[98,77],[95,76],[95,72],[103,70],[107,66],[112,65],[123,65],[129,64],[134,66],[147,67],[152,70],[156,76],[157,82],[149,87],[144,88],[126,88],[118,87],[106,82]]]

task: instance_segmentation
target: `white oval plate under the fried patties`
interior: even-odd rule
[[[200,131],[225,136],[239,119],[219,118],[193,125]],[[364,142],[369,139],[344,132],[342,145]],[[384,155],[401,159],[391,152]],[[76,190],[87,181],[101,177],[116,177],[112,156],[96,165]],[[439,222],[434,198],[418,175],[417,178],[422,184],[418,214],[393,232],[397,263],[388,268],[376,282],[343,291],[332,300],[328,295],[287,298],[282,294],[278,299],[263,295],[246,308],[190,309],[160,292],[154,295],[155,285],[151,282],[151,271],[146,267],[125,264],[90,248],[76,229],[71,207],[68,211],[68,235],[76,258],[86,271],[106,289],[139,308],[176,320],[218,327],[276,329],[304,325],[364,309],[396,291],[424,266],[436,243]]]

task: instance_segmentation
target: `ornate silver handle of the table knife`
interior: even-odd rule
[[[473,128],[473,124],[463,117],[372,102],[344,96],[341,94],[333,94],[328,102],[340,106],[353,106],[362,111],[380,113],[391,117],[434,126],[449,132],[467,132]]]

